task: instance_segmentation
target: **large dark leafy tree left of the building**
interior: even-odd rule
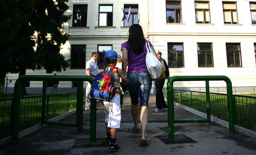
[[[66,71],[69,60],[59,52],[69,35],[63,32],[68,0],[0,0],[0,75]],[[2,70],[4,68],[4,70]],[[22,94],[26,94],[24,85]]]

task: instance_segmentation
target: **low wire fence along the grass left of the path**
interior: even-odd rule
[[[10,136],[13,98],[0,99],[0,139]],[[41,123],[42,95],[20,98],[19,131]],[[85,102],[83,102],[85,103]],[[45,119],[52,119],[76,108],[76,91],[47,94]]]

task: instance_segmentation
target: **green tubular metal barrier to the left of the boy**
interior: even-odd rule
[[[91,76],[60,76],[60,75],[24,75],[17,79],[14,85],[14,102],[12,105],[12,122],[11,122],[11,143],[16,144],[19,138],[19,108],[21,97],[21,84],[24,81],[43,81],[42,89],[42,124],[53,124],[63,126],[77,126],[78,131],[83,130],[83,81],[93,83]],[[76,122],[60,122],[45,120],[45,104],[46,104],[46,88],[47,81],[77,81],[77,96],[76,96]],[[90,141],[96,140],[96,99],[91,99],[90,111]]]

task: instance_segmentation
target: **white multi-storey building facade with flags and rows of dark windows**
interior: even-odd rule
[[[102,70],[104,53],[121,54],[130,25],[138,23],[154,49],[162,52],[170,76],[224,75],[233,87],[256,86],[256,0],[69,0],[67,5],[72,18],[64,31],[71,37],[61,53],[71,66],[57,75],[86,75],[85,63],[92,52],[99,53]],[[46,73],[27,70],[26,74]],[[7,74],[4,93],[13,92],[17,77]],[[205,87],[205,82],[174,86]],[[223,81],[210,81],[210,87],[223,86]],[[60,81],[60,91],[75,88],[76,82]],[[30,81],[27,91],[41,89],[42,81]]]

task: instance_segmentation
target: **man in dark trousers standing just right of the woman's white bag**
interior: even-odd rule
[[[163,63],[164,67],[164,74],[167,77],[169,77],[169,69],[168,65],[166,64],[166,61],[161,57],[162,53],[160,51],[156,52],[157,59]],[[165,79],[156,79],[155,86],[156,86],[156,109],[154,112],[162,112],[167,110],[167,105],[164,100],[164,93],[163,93],[163,87],[164,87]]]

